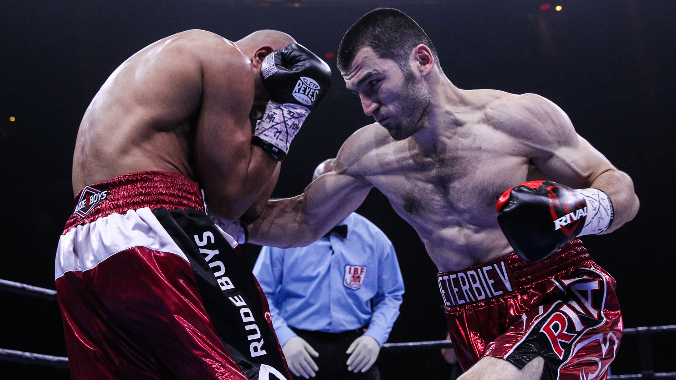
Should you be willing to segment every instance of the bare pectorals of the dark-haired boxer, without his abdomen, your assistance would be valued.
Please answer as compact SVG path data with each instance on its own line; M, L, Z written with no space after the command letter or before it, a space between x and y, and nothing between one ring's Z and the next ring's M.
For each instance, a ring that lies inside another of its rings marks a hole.
M375 179L377 187L414 218L446 211L472 219L487 208L494 214L500 194L527 174L527 159L504 139L489 126L468 124L441 137L436 151L425 151L413 139L400 141L383 170L390 175Z

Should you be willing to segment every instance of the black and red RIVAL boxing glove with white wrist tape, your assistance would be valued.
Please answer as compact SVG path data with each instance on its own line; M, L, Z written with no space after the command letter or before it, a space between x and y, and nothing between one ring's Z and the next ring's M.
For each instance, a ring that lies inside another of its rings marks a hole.
M612 224L612 202L599 189L571 189L552 181L531 181L498 199L498 224L514 252L533 262L575 237L604 233Z

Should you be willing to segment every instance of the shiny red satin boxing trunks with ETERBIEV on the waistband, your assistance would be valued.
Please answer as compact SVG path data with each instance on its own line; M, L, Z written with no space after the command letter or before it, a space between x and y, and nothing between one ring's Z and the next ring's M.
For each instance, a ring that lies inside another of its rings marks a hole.
M483 356L519 369L537 356L546 380L605 380L623 325L615 281L579 240L529 263L512 253L439 273L448 329L465 371Z

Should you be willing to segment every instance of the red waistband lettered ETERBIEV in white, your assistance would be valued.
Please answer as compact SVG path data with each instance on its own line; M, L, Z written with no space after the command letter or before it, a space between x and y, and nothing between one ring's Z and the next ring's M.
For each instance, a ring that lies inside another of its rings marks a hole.
M515 253L456 272L439 272L439 290L446 306L461 306L502 297L566 270L594 264L582 241L573 240L549 258L527 262Z

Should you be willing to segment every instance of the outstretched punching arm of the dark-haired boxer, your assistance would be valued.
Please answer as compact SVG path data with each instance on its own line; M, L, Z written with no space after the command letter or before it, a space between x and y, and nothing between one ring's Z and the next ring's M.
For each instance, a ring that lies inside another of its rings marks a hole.
M359 133L345 141L333 171L310 183L304 193L268 201L263 215L247 227L248 241L281 248L304 247L354 212L373 187L363 176L354 174L354 165L365 149Z

